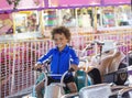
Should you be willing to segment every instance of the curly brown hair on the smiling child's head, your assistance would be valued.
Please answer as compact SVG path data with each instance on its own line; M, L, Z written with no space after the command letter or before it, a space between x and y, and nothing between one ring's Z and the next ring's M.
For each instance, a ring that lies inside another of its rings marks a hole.
M51 32L52 34L52 40L54 40L54 35L55 34L64 34L65 37L68 40L68 42L70 41L70 31L68 28L65 28L65 26L57 26L57 28L54 28Z

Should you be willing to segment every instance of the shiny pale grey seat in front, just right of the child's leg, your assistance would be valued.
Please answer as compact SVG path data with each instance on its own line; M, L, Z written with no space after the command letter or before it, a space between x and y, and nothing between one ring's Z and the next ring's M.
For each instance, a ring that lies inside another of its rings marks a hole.
M80 89L79 98L109 98L111 87L109 84L98 84Z

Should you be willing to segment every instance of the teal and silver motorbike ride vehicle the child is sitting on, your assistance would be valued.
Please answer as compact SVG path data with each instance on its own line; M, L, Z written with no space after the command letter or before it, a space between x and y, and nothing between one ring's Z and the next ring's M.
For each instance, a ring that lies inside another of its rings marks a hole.
M63 75L59 74L51 74L48 70L50 63L46 62L46 65L44 65L44 69L38 68L37 70L41 72L38 78L36 79L35 85L37 85L40 81L45 80L45 88L42 90L42 94L44 95L44 98L61 98L62 96L69 94L69 90L66 88L65 84L63 83L64 77L67 74L73 73L75 77L75 83L77 86L78 91L85 87L92 85L92 78L88 76L86 72L82 69L79 69L77 72L74 72L73 69L69 69L65 72ZM42 67L42 66L41 66ZM62 76L61 83L52 83L47 85L47 77L48 76ZM36 98L35 94L35 85L33 87L32 97Z

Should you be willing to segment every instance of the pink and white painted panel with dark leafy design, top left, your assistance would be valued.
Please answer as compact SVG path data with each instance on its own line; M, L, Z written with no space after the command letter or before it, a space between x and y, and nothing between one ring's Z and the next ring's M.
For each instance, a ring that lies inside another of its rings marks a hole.
M0 11L13 9L38 9L42 7L44 7L44 0L0 0Z

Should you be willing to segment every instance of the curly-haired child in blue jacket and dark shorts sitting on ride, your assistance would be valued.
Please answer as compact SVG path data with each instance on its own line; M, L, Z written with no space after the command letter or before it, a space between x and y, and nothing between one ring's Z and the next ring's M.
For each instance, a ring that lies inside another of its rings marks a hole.
M64 74L66 70L73 68L74 70L78 69L79 58L76 55L75 51L68 45L70 41L70 32L65 26L57 26L53 29L52 39L55 42L55 47L51 48L45 55L38 58L35 64L34 69L40 68L40 65L45 63L48 58L51 61L51 73L52 74ZM69 63L70 62L70 63ZM59 76L51 76L48 77L48 85L51 83L59 81ZM77 87L74 80L74 76L72 74L67 75L64 78L64 83L70 92L76 92ZM44 81L41 81L36 85L35 90L37 98L43 98L42 88L44 88Z

